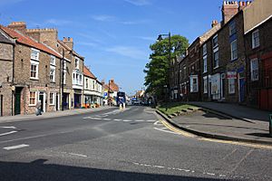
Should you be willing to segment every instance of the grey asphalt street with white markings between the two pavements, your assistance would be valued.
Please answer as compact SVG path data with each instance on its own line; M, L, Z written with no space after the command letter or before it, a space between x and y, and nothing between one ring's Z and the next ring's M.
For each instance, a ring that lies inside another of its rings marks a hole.
M131 106L0 124L0 180L272 180L272 149L180 135Z

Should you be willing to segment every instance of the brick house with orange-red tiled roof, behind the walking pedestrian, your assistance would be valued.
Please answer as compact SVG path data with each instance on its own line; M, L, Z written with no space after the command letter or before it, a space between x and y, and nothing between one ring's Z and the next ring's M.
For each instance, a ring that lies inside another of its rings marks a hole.
M61 54L26 35L24 23L1 26L15 40L15 114L32 114L38 101L42 110L59 110Z

